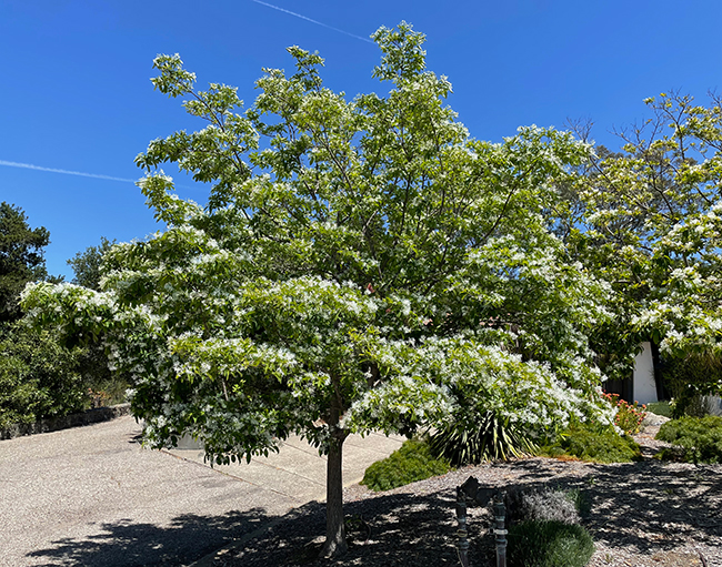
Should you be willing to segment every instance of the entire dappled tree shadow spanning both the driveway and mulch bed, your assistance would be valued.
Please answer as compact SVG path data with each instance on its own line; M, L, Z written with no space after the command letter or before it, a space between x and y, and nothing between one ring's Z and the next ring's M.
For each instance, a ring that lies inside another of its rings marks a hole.
M630 548L653 558L653 554L672 551L684 540L705 543L712 549L722 548L720 466L643 462L580 468L543 459L495 466L509 470L501 480L507 488L559 487L583 492L591 499L591 513L582 524L596 541L604 540L610 549ZM492 487L484 483L483 473L483 468L472 467L457 473L454 478L461 484L471 474L479 478L482 487ZM180 516L166 527L122 522L106 524L97 536L59 540L54 547L34 551L32 556L48 558L44 564L48 566L187 565L279 519L212 565L459 565L454 548L453 488L449 484L421 484L413 489L415 494L399 492L347 503L344 512L351 543L349 554L340 561L315 560L325 530L325 507L315 502L282 518L252 509L218 517ZM493 557L490 525L491 514L487 508L469 508L470 556L474 565L484 565Z

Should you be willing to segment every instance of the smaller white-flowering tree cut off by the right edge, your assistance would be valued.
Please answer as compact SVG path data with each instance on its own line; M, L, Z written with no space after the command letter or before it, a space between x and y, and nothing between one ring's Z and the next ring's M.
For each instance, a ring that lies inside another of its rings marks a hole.
M566 204L570 253L613 290L610 374L641 340L668 356L714 353L722 331L722 104L663 93L652 118L601 149ZM705 393L722 391L719 375Z

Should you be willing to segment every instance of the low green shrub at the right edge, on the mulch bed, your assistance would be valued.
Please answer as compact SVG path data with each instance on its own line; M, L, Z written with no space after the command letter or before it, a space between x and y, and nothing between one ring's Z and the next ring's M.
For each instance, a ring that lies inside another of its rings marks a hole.
M722 417L681 417L660 427L656 439L673 444L656 456L685 463L722 463Z

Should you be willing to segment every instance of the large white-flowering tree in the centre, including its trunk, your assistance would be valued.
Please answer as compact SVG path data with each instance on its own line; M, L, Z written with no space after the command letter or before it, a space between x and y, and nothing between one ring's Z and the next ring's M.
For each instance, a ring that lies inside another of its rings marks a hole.
M425 70L424 37L402 23L374 39L387 95L347 100L293 47L295 73L265 70L243 114L235 89L195 91L178 55L159 57L156 88L207 122L137 159L168 229L109 251L101 292L24 293L38 324L106 337L151 446L190 433L228 463L291 433L317 445L324 554L345 549L350 433L411 433L460 408L532 434L610 418L586 341L606 290L544 216L586 146L538 128L470 138L443 104L450 83ZM177 198L163 162L210 183L208 204Z

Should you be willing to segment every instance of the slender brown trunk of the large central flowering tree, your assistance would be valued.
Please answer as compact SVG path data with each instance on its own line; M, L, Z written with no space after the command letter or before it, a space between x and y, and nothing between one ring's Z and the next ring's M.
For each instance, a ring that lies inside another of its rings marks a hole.
M348 432L339 427L341 418L340 396L332 396L329 427L331 443L327 460L325 474L325 544L321 549L322 557L339 557L349 550L345 543L343 525L343 442Z

